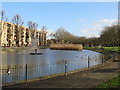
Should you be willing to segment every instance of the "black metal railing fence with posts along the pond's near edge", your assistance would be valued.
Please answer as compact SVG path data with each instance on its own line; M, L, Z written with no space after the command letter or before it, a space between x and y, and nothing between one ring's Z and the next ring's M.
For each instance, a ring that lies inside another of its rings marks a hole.
M104 58L87 57L86 60L61 60L56 64L44 65L4 65L0 67L1 71L1 85L8 86L12 84L26 83L30 80L40 79L54 74L64 74L82 68L89 68L90 66L103 64Z

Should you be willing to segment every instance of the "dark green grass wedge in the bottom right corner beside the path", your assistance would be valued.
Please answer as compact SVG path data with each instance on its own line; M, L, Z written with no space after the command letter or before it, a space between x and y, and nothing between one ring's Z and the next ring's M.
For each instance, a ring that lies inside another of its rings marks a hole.
M120 76L99 85L97 88L120 88Z

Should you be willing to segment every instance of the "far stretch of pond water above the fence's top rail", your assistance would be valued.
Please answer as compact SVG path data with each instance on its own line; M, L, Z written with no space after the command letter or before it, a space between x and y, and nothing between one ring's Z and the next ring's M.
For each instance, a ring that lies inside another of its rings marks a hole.
M2 65L42 65L42 64L56 64L62 60L67 62L81 60L86 63L88 56L91 58L91 62L96 60L96 64L101 63L101 53L83 50L83 51L66 51L66 50L50 50L39 49L38 52L42 52L42 55L30 55L33 50L23 50L18 52L2 51ZM94 62L92 62L94 63ZM81 63L82 64L82 63Z

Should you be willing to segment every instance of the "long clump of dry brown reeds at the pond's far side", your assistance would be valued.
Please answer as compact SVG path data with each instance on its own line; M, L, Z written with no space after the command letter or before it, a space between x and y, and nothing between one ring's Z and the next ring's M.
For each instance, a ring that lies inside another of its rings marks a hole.
M83 46L81 44L51 44L50 49L55 50L83 50Z

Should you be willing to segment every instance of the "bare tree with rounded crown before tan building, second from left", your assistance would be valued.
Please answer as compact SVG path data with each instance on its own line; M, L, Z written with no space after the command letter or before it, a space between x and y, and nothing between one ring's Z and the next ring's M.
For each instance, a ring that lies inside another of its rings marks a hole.
M21 19L21 16L19 14L16 14L14 16L14 18L12 19L13 24L15 25L15 41L16 41L16 45L19 47L19 43L20 43L20 36L21 36L21 28L20 26L22 26L24 24L23 20Z

